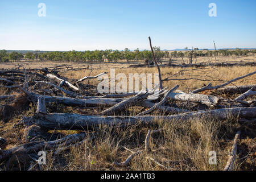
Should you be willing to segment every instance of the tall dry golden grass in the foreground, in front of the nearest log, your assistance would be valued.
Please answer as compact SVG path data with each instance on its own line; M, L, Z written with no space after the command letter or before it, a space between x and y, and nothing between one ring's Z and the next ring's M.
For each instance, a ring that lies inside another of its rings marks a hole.
M231 122L233 121L233 122ZM84 142L80 147L73 147L70 152L59 156L49 153L45 170L164 170L146 156L172 170L222 170L228 159L231 142L221 146L223 138L232 140L238 124L232 118L218 122L214 118L195 118L190 121L157 121L158 127L130 127L121 130L102 126L95 140ZM151 151L135 156L127 167L114 166L113 162L126 160L133 151L142 150L148 129L163 128L163 132L152 135ZM224 132L225 131L225 132ZM228 144L228 146L227 146ZM209 151L217 152L217 165L210 165ZM179 160L189 159L184 162ZM63 164L65 163L65 164ZM240 163L237 164L240 169Z

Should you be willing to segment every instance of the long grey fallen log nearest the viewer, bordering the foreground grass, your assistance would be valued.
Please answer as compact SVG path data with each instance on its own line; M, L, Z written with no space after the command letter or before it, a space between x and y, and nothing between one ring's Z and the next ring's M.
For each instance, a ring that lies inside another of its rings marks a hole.
M154 121L172 122L174 120L186 121L191 118L200 118L210 116L218 119L226 119L228 116L240 118L255 118L256 107L234 107L228 109L203 110L191 113L174 114L168 116L93 116L69 113L35 113L28 121L46 130L92 130L102 124L118 125L124 127L126 125L137 125L138 123L152 124Z

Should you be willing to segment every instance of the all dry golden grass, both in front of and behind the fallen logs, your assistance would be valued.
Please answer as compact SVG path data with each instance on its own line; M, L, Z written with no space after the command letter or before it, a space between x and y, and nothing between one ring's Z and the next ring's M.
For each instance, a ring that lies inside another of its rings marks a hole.
M41 64L41 63L40 63ZM42 63L44 64L44 63ZM76 64L75 64L76 65ZM120 67L122 65L123 68ZM47 65L46 65L47 66ZM52 65L51 65L52 66ZM127 68L126 64L112 64L115 67L115 74L137 72L157 73L156 68ZM92 65L93 71L89 69L81 71L64 71L60 75L77 80L86 75L94 76L102 72L110 72L110 64ZM209 80L218 81L165 81L163 86L172 88L176 84L180 85L180 90L186 91L196 89L203 84L212 82L213 85L221 84L223 81L232 80L235 77L246 75L255 71L255 67L231 67L231 68L205 68L195 70L186 68L187 71L181 72L172 78L208 78ZM162 77L170 77L181 71L181 68L161 68ZM110 73L108 73L110 76ZM222 81L221 81L222 80ZM97 86L97 79L90 80L90 85ZM243 78L233 82L234 85L255 84L256 76ZM85 81L85 84L87 81ZM10 94L7 89L0 88L1 95ZM226 96L223 96L226 97ZM4 104L1 102L0 104ZM0 121L0 137L8 140L7 148L11 148L19 143L14 133L22 138L24 127L16 126L22 115L32 115L36 109L35 104L31 104L29 109L15 111L13 118L4 123ZM79 108L66 107L62 105L48 105L49 112L67 112L83 113L86 111ZM130 114L138 113L141 108L132 108ZM129 166L117 167L113 162L122 162L131 153L123 147L132 151L139 151L144 148L144 139L148 129L164 130L150 138L151 151L143 152L135 156ZM255 169L255 125L245 126L237 122L236 118L229 117L226 121L220 122L216 118L193 118L187 122L184 121L155 121L154 126L132 126L127 129L119 127L101 126L100 130L95 129L97 138L88 140L78 147L72 147L70 151L65 151L60 155L54 155L53 152L47 153L47 164L42 166L44 170L163 170L146 156L154 158L164 166L173 170L222 170L228 159L228 151L232 146L232 140L238 128L242 129L242 140L238 146L237 170ZM75 131L50 131L51 139L58 138L62 135L73 134ZM55 134L53 136L53 134ZM217 152L217 165L210 165L209 151ZM175 162L177 160L190 159L187 162ZM1 164L0 164L1 166ZM5 167L1 167L5 168ZM19 169L19 168L18 168ZM22 168L23 169L23 168Z

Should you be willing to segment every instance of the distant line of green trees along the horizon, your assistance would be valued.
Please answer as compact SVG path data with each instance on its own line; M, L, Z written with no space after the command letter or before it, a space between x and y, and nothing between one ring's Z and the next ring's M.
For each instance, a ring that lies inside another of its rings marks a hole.
M180 57L185 64L184 58L188 58L188 63L192 64L192 62L197 60L197 57L213 57L215 56L242 56L256 53L256 50L242 50L242 49L234 49L234 50L225 50L219 49L217 51L200 51L198 48L188 49L185 48L185 51L160 51L160 47L154 47L155 58L157 61L162 63L161 60L168 59L171 63L172 59ZM60 52L60 51L51 51L51 52L7 52L6 50L0 51L0 62L4 63L7 61L19 61L26 59L28 61L36 60L36 61L75 61L75 62L92 62L92 61L122 61L126 60L130 61L148 61L148 63L152 62L152 52L148 50L139 51L139 49L135 49L134 51L130 51L129 49L125 49L123 51L107 49L105 51L68 51L68 52Z

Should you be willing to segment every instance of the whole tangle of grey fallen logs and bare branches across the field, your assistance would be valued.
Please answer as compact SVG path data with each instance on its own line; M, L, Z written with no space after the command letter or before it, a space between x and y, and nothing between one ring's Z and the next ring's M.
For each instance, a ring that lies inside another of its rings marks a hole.
M159 90L142 90L139 93L124 94L98 94L96 88L88 84L82 84L84 80L94 79L104 75L85 76L79 80L71 80L61 77L59 69L67 67L52 67L44 69L12 69L0 71L0 87L7 88L8 93L15 94L0 96L0 101L5 101L1 105L1 117L8 122L14 110L21 108L27 102L37 105L36 112L30 117L23 117L20 123L26 126L23 144L5 150L6 139L0 138L0 163L6 162L9 166L13 157L37 154L40 150L53 150L55 154L68 150L71 146L76 146L85 139L93 139L97 135L88 131L97 130L102 124L117 125L127 127L131 125L151 125L155 121L163 122L184 122L191 118L214 117L220 121L232 115L240 121L255 121L256 101L248 98L255 98L256 85L227 86L233 81L254 75L256 72L242 77L234 78L222 85L212 86L208 84L203 88L191 90L189 93L174 88ZM69 69L72 69L69 67ZM46 88L46 85L48 88ZM94 92L88 89L94 89ZM233 100L200 94L205 90L214 90L214 93L240 94ZM94 93L94 94L92 94ZM81 109L100 108L94 114L85 115L77 113L48 113L47 105L50 103L61 104ZM142 107L140 113L136 115L124 115L129 107ZM154 114L159 112L161 114ZM79 134L68 135L64 138L45 141L34 140L33 132L36 135L46 133L49 130L77 130ZM160 130L159 130L160 131ZM152 131L154 133L155 131ZM146 141L148 140L148 134ZM145 150L147 150L147 142ZM133 152L126 162L114 163L117 166L126 166L130 159L142 151ZM236 153L234 151L234 153ZM229 167L233 165L233 158L230 157ZM231 159L232 158L232 159ZM153 162L158 163L154 161ZM8 166L7 165L7 166ZM160 164L158 164L160 165Z

